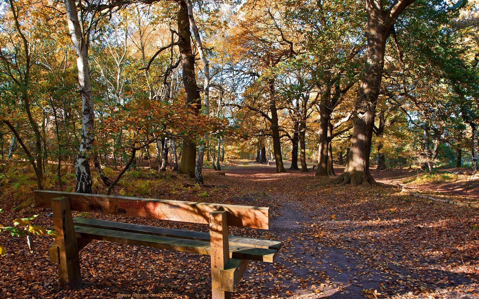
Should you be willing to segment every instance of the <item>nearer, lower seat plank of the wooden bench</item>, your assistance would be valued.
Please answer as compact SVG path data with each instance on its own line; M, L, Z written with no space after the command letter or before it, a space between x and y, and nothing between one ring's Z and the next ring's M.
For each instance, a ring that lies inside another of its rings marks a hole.
M130 233L86 226L75 226L77 238L117 242L123 244L171 249L202 255L210 255L210 242L156 236L144 233ZM277 251L266 248L236 246L229 244L229 255L232 258L248 259L273 263Z

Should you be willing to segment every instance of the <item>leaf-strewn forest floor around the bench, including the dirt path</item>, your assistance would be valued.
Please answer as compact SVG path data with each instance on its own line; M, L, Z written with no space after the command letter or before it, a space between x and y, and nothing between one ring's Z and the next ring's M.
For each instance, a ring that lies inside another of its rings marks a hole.
M325 185L328 180L313 172L275 174L273 165L248 161L233 161L226 169L225 176L205 170L212 188L180 188L187 179L167 175L141 195L271 208L269 231L230 231L283 242L274 264L250 262L233 298L479 298L478 209L415 198L396 185L439 196L435 188L451 183L447 176L434 183L435 177L414 178L415 171L373 171L384 186L365 188ZM339 174L342 169L336 170ZM479 179L466 183L464 198L477 200ZM124 185L122 190L129 192ZM445 191L461 198L465 187ZM34 224L52 224L45 216L49 210L11 210L16 204L0 203L0 223L35 213L40 216ZM204 225L171 221L82 216L207 231ZM48 260L50 242L35 238L35 252L30 253L24 239L0 234L0 244L9 252L0 257L0 298L210 298L207 256L100 241L80 253L83 288L62 290L57 267Z

